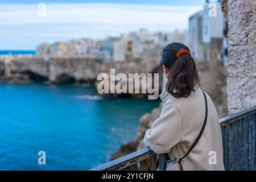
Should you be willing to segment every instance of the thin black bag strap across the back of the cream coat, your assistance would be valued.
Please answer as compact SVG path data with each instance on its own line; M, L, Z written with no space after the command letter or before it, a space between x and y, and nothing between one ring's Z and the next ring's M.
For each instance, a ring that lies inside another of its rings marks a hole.
M178 160L178 163L180 164L180 171L183 171L183 166L181 164L181 160L184 159L192 150L193 148L196 146L197 142L199 142L201 136L203 135L204 133L204 129L205 129L205 125L207 123L207 118L208 118L208 104L207 104L207 97L205 96L205 93L204 91L202 90L203 94L204 94L204 100L205 100L205 117L204 117L204 124L201 128L201 131L199 133L199 135L197 136L195 142L192 144L192 146L189 148L189 150L187 151L187 153Z

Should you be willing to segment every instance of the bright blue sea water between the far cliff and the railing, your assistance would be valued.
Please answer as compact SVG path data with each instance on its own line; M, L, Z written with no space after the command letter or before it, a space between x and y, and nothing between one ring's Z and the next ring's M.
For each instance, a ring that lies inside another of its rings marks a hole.
M134 139L159 101L90 97L91 86L0 84L0 170L86 170ZM46 152L46 165L38 164Z

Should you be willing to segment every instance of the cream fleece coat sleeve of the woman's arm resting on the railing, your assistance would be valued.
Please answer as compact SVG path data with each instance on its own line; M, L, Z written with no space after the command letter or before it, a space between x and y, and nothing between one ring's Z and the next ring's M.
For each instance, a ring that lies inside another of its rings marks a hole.
M168 104L163 107L160 117L154 121L151 129L146 131L144 144L156 154L171 151L181 141L181 115L176 106Z

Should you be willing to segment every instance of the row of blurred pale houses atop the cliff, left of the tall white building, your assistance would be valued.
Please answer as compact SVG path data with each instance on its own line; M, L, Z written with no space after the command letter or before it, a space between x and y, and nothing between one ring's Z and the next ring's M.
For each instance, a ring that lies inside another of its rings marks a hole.
M152 55L170 42L185 43L186 31L156 32L147 29L129 32L104 40L79 39L69 42L43 43L36 48L39 56L85 56L95 57L106 63L125 60L139 60ZM151 52L150 52L151 51ZM146 54L146 55L145 55Z

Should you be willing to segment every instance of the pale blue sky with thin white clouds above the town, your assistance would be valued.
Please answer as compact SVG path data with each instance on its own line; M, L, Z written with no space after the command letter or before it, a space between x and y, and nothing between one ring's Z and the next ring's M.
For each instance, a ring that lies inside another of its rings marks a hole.
M46 5L45 11L38 7L40 2ZM203 9L204 2L0 0L0 49L33 50L44 42L104 39L141 28L152 32L184 30L188 17Z

